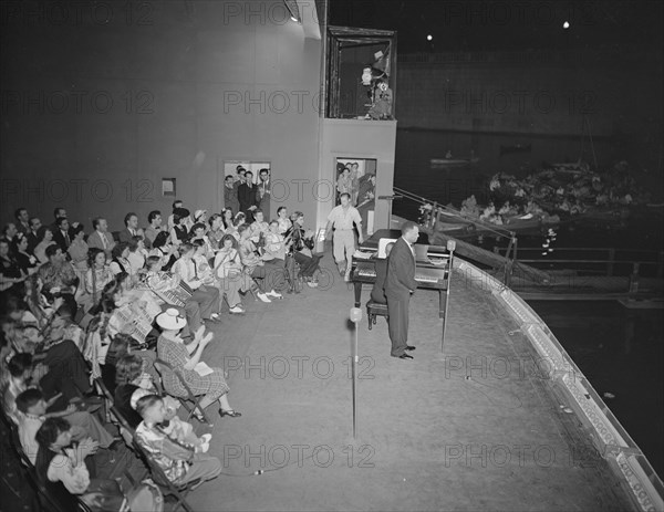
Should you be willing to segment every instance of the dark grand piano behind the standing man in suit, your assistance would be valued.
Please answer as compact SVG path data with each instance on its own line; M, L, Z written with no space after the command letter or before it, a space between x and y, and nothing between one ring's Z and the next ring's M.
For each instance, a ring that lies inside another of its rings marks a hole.
M353 258L351 268L351 282L355 289L355 307L362 303L362 285L374 284L376 281L375 262L377 260L378 243L381 239L397 239L401 231L382 229L376 231L369 240L359 248L362 253L373 254L369 259ZM449 282L450 253L445 247L428 245L421 243L426 239L417 240L415 243L415 280L417 289L437 290L439 296L438 316L445 317L445 302L447 300L447 284Z

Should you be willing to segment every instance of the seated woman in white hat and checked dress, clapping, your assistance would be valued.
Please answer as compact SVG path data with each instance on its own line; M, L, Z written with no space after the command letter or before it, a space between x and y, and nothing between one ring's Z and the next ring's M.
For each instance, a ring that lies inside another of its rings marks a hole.
M194 336L194 342L185 345L179 336L180 330L187 325L184 315L175 309L168 309L157 315L157 325L162 327L163 333L157 341L157 354L160 359L170 364L176 370L179 370L185 382L191 388L194 395L205 395L200 400L200 407L205 409L215 401L219 401L219 415L237 418L242 416L235 411L228 403L229 387L224 378L224 370L220 368L209 368L207 365L200 365L200 356L204 348L212 341L212 333L205 333L205 326L201 326ZM211 369L211 372L210 372ZM186 389L183 388L175 375L163 376L164 388L176 396L185 396ZM200 419L199 417L197 417Z

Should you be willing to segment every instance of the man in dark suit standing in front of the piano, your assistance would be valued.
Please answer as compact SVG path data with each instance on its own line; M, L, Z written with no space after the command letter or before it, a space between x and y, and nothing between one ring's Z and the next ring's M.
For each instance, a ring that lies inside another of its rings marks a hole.
M415 222L406 221L402 226L402 237L394 243L387 259L387 276L385 279L385 296L387 297L387 313L390 339L392 341L392 356L400 359L412 359L406 351L415 347L408 341L408 307L411 295L417 289L415 281L415 253L413 243L419 237L419 228Z

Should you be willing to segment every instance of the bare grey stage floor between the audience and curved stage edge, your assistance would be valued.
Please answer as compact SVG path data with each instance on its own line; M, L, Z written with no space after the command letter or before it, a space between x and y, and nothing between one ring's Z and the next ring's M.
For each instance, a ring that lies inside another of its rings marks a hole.
M196 511L631 508L517 323L456 274L443 353L437 293L411 302L414 361L391 357L385 320L369 331L363 310L353 439L353 291L330 251L322 267L332 282L247 297L214 327L205 361L228 369L242 417L208 409L226 474L189 495Z

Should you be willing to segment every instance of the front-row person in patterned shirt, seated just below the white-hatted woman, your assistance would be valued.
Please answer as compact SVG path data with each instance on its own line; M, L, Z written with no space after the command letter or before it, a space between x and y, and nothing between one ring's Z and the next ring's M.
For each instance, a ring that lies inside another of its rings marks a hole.
M219 459L205 454L210 435L198 439L197 445L188 442L195 436L191 432L185 435L181 425L166 421L164 400L157 395L139 398L136 411L143 418L136 428L136 439L172 483L179 487L197 479L212 480L219 476Z

